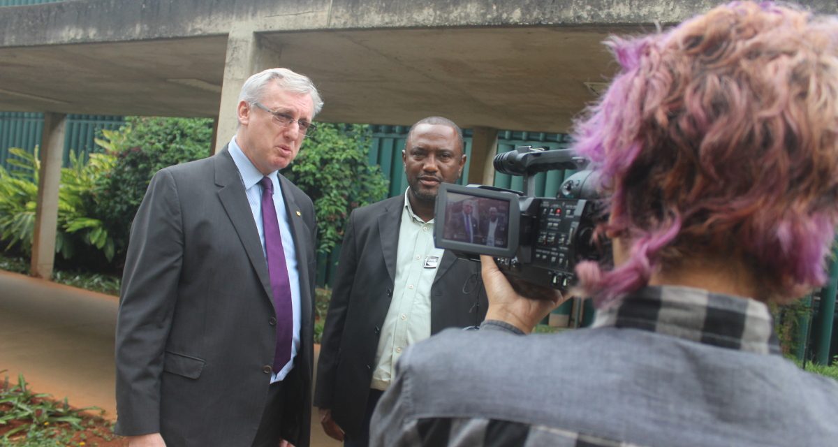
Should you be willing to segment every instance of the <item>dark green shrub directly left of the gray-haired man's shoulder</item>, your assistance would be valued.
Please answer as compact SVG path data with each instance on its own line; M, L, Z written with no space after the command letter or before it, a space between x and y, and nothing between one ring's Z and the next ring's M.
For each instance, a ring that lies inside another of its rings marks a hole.
M125 262L131 223L158 170L209 156L209 118L127 117L118 131L103 130L96 143L116 164L96 182L96 214L114 238L117 265Z

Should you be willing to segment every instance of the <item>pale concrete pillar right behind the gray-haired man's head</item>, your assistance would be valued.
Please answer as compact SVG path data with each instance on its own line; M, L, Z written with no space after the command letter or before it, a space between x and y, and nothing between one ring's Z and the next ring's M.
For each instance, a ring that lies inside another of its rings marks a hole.
M215 148L224 148L235 135L238 125L236 107L241 86L251 75L268 68L278 67L282 49L275 47L260 35L253 33L248 23L241 23L227 36L227 59L224 66L224 83L221 85L221 103L218 114ZM215 153L215 150L213 151Z

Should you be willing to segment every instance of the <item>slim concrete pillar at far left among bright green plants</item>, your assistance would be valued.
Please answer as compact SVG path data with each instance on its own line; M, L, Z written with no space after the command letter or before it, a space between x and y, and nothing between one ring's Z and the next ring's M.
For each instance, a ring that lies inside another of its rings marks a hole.
M63 113L44 113L38 174L38 203L35 207L35 231L32 240L32 276L52 278L55 262L55 233L58 227L58 189L61 183L61 159L64 153L65 124Z

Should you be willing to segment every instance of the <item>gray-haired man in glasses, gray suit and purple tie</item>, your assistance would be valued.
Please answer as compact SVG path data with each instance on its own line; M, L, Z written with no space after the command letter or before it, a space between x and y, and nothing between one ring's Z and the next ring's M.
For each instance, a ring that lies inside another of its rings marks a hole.
M132 446L308 445L316 226L279 169L323 101L251 76L215 156L154 175L132 225L116 327L116 433Z

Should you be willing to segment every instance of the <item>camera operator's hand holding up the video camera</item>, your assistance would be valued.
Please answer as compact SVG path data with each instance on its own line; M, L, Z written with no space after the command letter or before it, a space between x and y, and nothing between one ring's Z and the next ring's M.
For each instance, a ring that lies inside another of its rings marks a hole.
M566 300L553 288L515 279L513 285L490 256L480 256L480 264L486 294L489 295L486 320L504 321L529 334L552 309Z

